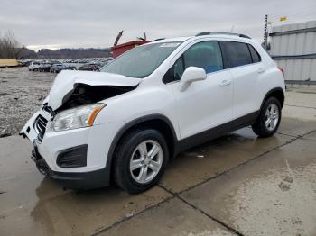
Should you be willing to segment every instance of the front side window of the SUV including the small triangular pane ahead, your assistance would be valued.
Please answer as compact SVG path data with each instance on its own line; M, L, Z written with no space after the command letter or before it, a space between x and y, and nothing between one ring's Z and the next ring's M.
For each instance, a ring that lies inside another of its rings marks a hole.
M186 50L163 77L164 83L179 81L186 68L204 68L206 73L223 69L218 41L202 41Z

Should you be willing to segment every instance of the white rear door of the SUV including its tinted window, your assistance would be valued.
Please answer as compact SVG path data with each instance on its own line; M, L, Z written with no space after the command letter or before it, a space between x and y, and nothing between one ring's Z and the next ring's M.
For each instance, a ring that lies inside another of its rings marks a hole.
M234 80L233 119L258 111L258 79L265 71L259 54L247 43L225 42L229 71Z

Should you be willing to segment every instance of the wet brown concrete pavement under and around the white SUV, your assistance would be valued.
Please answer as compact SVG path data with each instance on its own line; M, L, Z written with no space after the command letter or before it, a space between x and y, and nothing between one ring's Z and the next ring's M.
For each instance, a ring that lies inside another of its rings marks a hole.
M1 138L0 235L316 235L313 91L288 92L273 137L244 128L185 151L140 195L63 190L29 141Z

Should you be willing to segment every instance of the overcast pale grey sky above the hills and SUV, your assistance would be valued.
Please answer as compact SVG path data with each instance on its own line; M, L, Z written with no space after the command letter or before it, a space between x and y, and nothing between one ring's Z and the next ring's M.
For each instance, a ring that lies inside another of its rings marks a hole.
M204 31L262 41L265 14L272 25L316 20L316 0L0 0L0 33L14 32L32 50L111 47L121 30L120 42Z

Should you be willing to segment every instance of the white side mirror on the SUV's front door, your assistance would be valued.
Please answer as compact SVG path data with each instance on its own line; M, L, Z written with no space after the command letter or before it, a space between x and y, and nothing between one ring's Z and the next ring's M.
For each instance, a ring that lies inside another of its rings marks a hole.
M189 67L183 72L180 80L179 90L183 92L191 83L206 79L206 72L203 68Z

